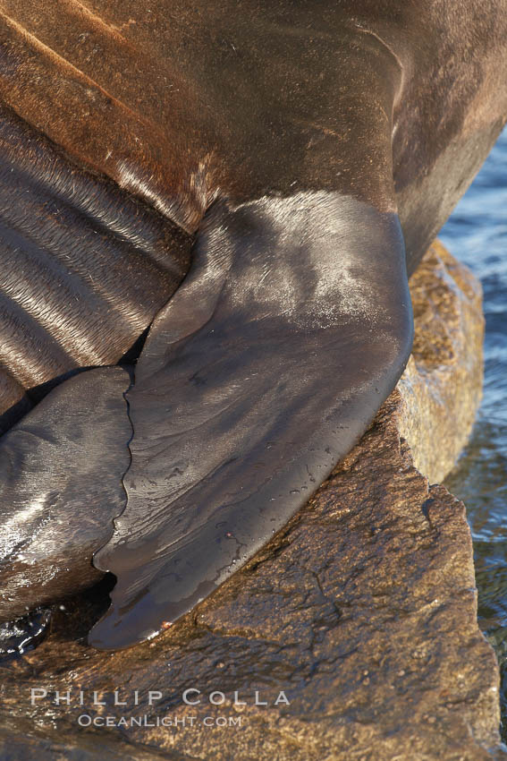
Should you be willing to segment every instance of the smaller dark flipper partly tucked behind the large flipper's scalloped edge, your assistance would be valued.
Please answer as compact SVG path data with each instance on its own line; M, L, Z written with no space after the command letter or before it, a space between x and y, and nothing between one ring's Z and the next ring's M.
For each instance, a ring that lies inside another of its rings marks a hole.
M121 367L80 372L0 439L0 621L89 586L125 504L131 423Z

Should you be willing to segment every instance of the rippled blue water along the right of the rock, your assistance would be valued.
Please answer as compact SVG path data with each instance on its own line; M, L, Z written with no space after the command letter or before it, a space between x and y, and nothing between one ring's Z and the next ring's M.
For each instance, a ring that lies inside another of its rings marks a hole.
M484 398L469 446L445 485L467 506L479 626L500 663L507 740L507 128L439 237L484 289Z

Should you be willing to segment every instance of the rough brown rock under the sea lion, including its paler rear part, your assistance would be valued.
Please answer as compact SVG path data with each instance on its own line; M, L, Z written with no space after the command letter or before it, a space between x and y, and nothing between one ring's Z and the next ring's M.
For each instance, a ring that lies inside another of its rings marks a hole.
M406 376L246 568L151 643L91 650L84 636L98 603L81 596L57 612L37 650L1 664L2 759L507 758L465 511L428 486L410 454L433 481L468 435L480 393L480 295L438 246L412 293L417 341ZM30 705L30 688L48 696ZM188 688L201 690L189 695L199 705L183 703ZM115 689L128 705L114 705ZM162 693L152 706L150 689ZM71 705L56 705L55 690L71 690ZM93 690L105 705L92 705ZM223 705L210 705L214 690ZM233 705L235 690L247 705ZM268 705L254 705L256 690ZM289 703L273 705L281 690ZM83 729L83 714L180 724ZM206 717L234 724L206 726Z

